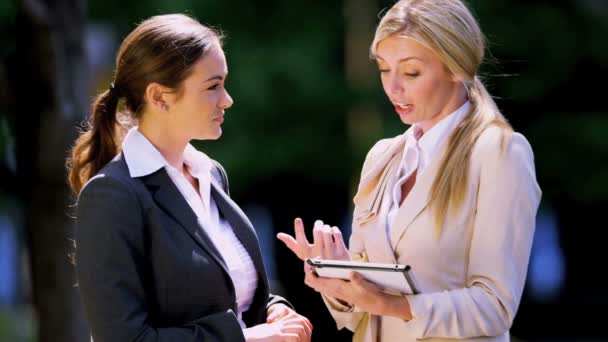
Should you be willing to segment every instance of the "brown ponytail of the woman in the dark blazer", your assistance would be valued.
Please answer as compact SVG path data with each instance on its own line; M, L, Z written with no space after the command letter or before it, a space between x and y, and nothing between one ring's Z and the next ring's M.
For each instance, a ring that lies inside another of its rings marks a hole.
M93 102L91 118L76 140L67 162L68 180L75 194L118 153L116 111L119 99L118 89L112 84Z

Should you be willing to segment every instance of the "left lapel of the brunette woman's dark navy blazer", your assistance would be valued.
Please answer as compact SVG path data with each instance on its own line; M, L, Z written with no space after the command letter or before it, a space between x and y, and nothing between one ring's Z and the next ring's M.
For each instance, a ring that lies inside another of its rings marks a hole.
M169 178L167 171L162 168L149 176L141 177L141 179L153 194L156 204L177 221L203 249L209 251L209 254L226 274L229 274L228 267L221 254L205 233L205 230L201 229L196 214Z

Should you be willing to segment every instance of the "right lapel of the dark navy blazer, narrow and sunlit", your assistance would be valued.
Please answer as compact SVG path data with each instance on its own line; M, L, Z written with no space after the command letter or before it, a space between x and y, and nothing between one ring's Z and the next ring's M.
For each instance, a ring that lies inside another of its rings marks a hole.
M230 224L236 237L241 241L247 253L251 256L253 264L259 274L259 280L268 286L264 261L260 252L257 235L245 213L221 190L215 182L211 182L211 196L215 200L218 210Z

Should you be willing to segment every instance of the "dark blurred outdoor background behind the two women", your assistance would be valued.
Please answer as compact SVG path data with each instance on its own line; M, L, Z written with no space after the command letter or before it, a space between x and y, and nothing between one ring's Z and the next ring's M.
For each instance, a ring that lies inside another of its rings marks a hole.
M348 235L366 152L405 130L368 53L392 3L1 1L0 341L88 341L70 264L65 158L92 96L112 80L122 38L171 12L227 35L235 104L222 138L196 146L227 169L274 292L311 319L314 341L350 341L274 235L292 232L297 216ZM482 75L530 141L543 190L513 340L606 340L608 1L468 3L489 40Z

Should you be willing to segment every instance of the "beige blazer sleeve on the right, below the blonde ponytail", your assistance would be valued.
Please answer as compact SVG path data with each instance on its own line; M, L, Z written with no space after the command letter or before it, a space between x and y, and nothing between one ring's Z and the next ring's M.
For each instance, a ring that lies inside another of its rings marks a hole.
M414 318L403 324L416 338L502 335L517 312L541 191L527 140L514 133L501 153L496 135L489 136L480 137L481 169L466 287L407 296Z

